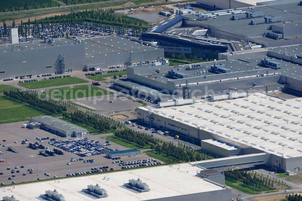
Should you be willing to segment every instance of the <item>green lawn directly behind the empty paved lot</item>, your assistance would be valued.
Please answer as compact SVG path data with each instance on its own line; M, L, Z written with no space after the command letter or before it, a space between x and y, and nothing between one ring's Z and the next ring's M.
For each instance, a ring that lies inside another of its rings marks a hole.
M108 94L113 94L113 92L109 92L102 88L92 85L80 85L80 86L63 87L63 88L56 88L56 89L46 89L43 90L43 94L47 94L49 96L61 100L68 100L73 98L108 95Z

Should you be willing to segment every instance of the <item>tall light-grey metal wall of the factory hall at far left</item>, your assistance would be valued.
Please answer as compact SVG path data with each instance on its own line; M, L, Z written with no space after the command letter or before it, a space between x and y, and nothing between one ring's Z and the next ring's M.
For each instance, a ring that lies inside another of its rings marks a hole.
M81 71L85 66L84 43L0 53L0 78L39 75L59 71L59 54L65 57L65 69ZM52 66L46 68L46 66Z

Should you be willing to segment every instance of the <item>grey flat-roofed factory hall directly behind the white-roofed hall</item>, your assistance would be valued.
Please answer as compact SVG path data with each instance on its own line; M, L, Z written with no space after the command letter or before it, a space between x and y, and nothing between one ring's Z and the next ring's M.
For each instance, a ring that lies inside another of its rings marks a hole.
M255 92L302 92L302 46L220 53L213 62L168 67L164 59L127 67L127 79L113 80L117 90L156 101L244 97Z

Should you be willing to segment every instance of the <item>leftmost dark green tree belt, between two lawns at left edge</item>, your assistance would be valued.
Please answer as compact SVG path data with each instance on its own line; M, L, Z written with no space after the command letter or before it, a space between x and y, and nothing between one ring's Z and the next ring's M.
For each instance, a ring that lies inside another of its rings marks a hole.
M45 94L36 91L4 91L3 94L51 113L62 113L68 107L65 102L48 99Z

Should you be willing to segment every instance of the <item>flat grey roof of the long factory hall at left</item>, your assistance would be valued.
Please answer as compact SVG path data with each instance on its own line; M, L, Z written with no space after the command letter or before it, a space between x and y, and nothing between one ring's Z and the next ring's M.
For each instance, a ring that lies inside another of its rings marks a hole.
M15 51L22 49L35 49L35 48L45 48L53 46L63 46L63 45L76 45L76 40L72 38L57 38L53 40L53 45L50 43L44 43L44 40L37 39L34 42L23 42L18 44L5 43L0 45L0 52L11 51L11 46L15 46ZM101 56L109 54L121 54L129 52L140 52L149 49L155 49L158 47L146 46L137 41L132 41L126 37L120 36L103 36L94 38L79 38L81 43L85 44L85 56Z

